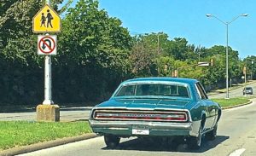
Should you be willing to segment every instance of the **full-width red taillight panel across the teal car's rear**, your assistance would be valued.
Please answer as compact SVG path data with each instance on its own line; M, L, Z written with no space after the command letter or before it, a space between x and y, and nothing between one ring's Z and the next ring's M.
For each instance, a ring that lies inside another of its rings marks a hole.
M108 112L96 111L95 119L106 120L150 120L186 122L188 115L185 112Z

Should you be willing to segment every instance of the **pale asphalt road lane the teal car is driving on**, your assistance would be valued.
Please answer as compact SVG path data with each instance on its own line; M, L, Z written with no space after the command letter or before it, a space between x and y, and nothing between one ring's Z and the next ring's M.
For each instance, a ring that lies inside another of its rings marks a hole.
M212 142L203 141L200 150L190 150L185 142L176 149L165 146L161 142L143 142L137 138L122 139L119 147L114 150L107 149L103 138L82 142L69 143L59 147L51 147L33 153L21 154L20 156L82 156L82 155L219 155L238 156L256 155L256 99L253 103L244 107L236 107L224 110L223 116L218 123L218 136Z

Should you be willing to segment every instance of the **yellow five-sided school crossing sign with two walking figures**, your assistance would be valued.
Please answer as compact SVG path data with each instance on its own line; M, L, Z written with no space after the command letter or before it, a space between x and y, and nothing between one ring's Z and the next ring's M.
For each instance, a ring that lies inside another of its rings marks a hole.
M61 17L48 4L33 17L33 32L61 32Z

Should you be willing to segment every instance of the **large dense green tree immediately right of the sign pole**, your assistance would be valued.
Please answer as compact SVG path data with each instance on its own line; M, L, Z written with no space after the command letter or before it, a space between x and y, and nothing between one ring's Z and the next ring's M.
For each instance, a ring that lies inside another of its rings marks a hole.
M54 83L61 101L106 99L125 78L131 36L117 18L93 0L80 0L67 10L59 35ZM78 87L79 85L79 87ZM69 96L67 96L69 95Z

